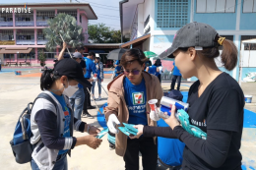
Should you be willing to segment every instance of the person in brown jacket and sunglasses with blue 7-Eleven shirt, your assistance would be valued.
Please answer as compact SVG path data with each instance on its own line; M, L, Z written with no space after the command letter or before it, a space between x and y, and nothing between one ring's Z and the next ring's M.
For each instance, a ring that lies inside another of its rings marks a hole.
M147 58L140 49L130 49L121 58L124 74L119 75L107 85L109 90L105 119L107 127L115 134L116 154L123 156L126 170L139 170L139 152L142 153L143 167L156 170L158 161L158 146L156 138L131 140L122 133L118 133L116 124L143 124L156 126L151 120L147 101L153 98L160 100L162 90L156 76L144 72Z

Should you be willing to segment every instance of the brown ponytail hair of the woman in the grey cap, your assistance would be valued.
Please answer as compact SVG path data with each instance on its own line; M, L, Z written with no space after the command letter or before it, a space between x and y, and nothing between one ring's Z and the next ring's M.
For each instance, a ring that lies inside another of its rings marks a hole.
M215 38L216 46L204 48L202 51L197 51L200 56L206 58L216 58L220 56L219 46L223 46L223 53L221 55L224 68L227 71L234 69L237 63L237 48L234 43L219 34Z

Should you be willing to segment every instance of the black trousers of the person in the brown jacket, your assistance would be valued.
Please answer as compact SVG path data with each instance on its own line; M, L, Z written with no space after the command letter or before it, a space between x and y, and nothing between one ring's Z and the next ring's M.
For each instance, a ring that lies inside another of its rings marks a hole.
M139 170L139 151L142 153L144 170L156 170L158 164L158 145L153 138L141 137L140 139L127 140L124 154L125 170Z

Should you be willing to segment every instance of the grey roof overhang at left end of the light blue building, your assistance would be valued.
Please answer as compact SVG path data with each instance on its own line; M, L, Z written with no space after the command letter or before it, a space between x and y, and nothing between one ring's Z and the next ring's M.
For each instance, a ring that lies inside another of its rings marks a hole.
M121 34L130 34L138 5L145 0L123 0L119 2Z

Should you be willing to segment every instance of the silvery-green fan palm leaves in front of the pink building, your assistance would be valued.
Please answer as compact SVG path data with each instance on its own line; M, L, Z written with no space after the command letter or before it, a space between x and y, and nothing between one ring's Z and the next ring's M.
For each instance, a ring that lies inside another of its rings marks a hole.
M72 48L83 46L85 35L83 28L77 25L77 21L74 17L60 13L55 18L48 21L49 28L44 28L48 42L46 43L46 50L53 51L57 45L62 46L62 39L59 34L62 35L64 41Z

